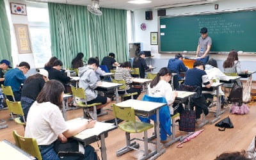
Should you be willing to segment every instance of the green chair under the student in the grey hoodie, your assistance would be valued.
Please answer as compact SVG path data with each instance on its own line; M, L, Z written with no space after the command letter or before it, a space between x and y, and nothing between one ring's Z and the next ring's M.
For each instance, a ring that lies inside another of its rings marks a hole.
M71 90L72 90L74 100L76 100L76 98L86 99L86 95L84 93L83 88L76 88L74 86L71 86ZM99 115L97 115L97 106L101 105L102 103L87 104L86 102L81 102L81 100L76 100L76 104L77 104L77 106L83 108L84 117L86 117L89 113L90 116L92 116L94 120L97 120L97 116L108 114L108 112L105 112L105 113L100 113ZM90 111L90 108L92 108L92 107L93 107L93 112Z

